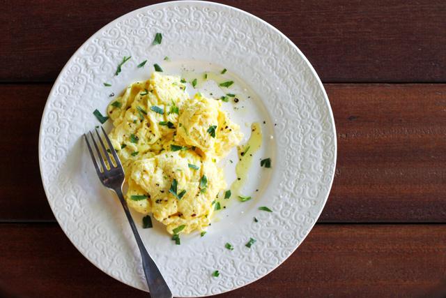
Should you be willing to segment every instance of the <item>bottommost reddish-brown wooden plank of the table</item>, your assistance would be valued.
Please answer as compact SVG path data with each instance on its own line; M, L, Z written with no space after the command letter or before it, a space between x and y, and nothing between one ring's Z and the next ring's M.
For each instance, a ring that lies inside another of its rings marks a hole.
M0 239L10 295L147 297L91 265L56 224L1 224ZM316 225L271 274L217 297L420 297L442 283L445 255L445 225Z

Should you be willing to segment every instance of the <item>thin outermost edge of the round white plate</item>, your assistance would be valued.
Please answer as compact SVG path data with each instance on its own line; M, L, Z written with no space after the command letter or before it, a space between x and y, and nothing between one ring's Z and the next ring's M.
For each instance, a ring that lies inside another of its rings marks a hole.
M59 223L59 219L57 218L56 214L54 214L54 209L51 207L51 204L49 203L49 199L48 199L48 190L47 190L47 186L45 186L45 183L43 181L43 161L42 161L42 157L41 157L41 153L40 153L40 148L43 142L43 119L45 116L45 113L47 112L48 108L49 108L49 97L51 96L51 94L53 93L56 85L59 83L59 81L61 80L61 75L64 72L64 70L66 70L66 68L69 66L69 64L71 63L71 61L73 59L75 59L76 54L82 49L82 47L84 47L84 45L86 45L87 43L89 43L90 40L93 40L93 38L96 36L97 33L99 33L100 31L102 31L102 29L105 29L105 27L108 27L110 24L114 24L116 22L119 22L120 20L124 19L125 17L127 17L130 14L136 13L139 10L144 10L145 8L156 8L157 6L164 6L164 5L175 5L181 3L181 5L193 5L193 4L210 4L215 5L215 6L222 6L224 8L229 8L229 9L233 9L233 10L238 10L238 12L243 13L245 15L248 15L249 17L254 17L255 20L261 22L262 24L266 25L267 27L269 27L270 29L272 29L273 31L279 33L279 36L281 36L282 38L284 38L289 45L291 45L291 47L293 48L293 50L297 50L298 54L300 55L300 57L302 58L303 61L305 61L305 64L309 67L309 70L311 71L312 75L314 75L314 78L316 79L316 82L320 88L320 90L322 91L323 94L323 98L325 100L325 104L326 107L328 109L328 118L330 120L330 123L332 124L332 134L333 134L333 158L332 158L332 162L333 162L333 170L332 170L332 174L330 177L330 182L327 184L328 186L328 191L326 193L326 195L324 195L324 200L323 203L321 204L321 209L318 211L317 216L315 217L314 223L312 223L311 228L308 230L308 232L305 234L305 236L302 237L302 241L300 241L300 243L298 243L297 246L295 246L295 248L293 249L293 251L291 251L291 253L289 253L289 255L284 258L283 260L281 260L275 267L272 267L272 269L270 269L270 271L267 271L265 274L259 276L258 278L254 278L252 279L252 281L249 281L247 283L245 283L244 285L235 285L233 288L228 289L228 290L224 290L222 292L219 293L211 293L210 295L199 295L199 296L194 296L194 297L211 297L211 296L215 296L215 295L220 295L226 292L231 292L233 290L237 290L239 288L243 288L251 283L254 283L255 281L259 281L262 278L264 278L265 276L267 276L268 274L271 274L272 271L275 271L275 269L277 269L277 267L279 267L280 265L282 265L286 260L288 260L288 258L291 257L291 255L293 255L293 253L295 253L295 251L298 249L298 247L303 243L303 241L305 241L305 239L307 238L307 236L309 235L310 232L312 232L314 225L316 225L316 222L318 221L318 218L321 216L323 209L325 208L325 204L328 201L328 197L330 195L331 189L332 189L332 184L334 181L334 174L335 174L335 170L336 170L336 166L337 166L337 130L336 130L336 124L334 121L334 115L332 112L332 107L330 105L330 100L328 99L328 94L325 91L325 88L323 87L323 83L321 82L321 78L318 76L318 74L316 73L316 70L314 70L314 67L312 66L312 64L310 63L310 61L307 59L307 57L305 56L305 54L302 53L302 51L299 49L299 47L297 45L295 45L295 43L293 43L293 41L288 38L288 36L286 36L284 33L282 33L282 31L280 31L279 29L277 29L276 27L272 26L272 24L266 22L265 20L261 19L260 17L257 17L256 15L253 15L252 13L249 13L245 10L242 10L240 8L236 8L234 6L230 6L230 5L226 5L223 3L217 3L217 2L213 2L213 1L202 1L202 0L174 0L174 1L162 1L160 3L155 3L155 4L151 4L148 6L142 6L139 8L136 8L134 10L129 11L128 13L125 13L119 17L116 17L116 19L108 22L107 24L105 24L104 26L100 27L100 29L96 30L89 38L87 38L84 43L82 43L82 45L79 45L79 47L77 47L77 50L75 50L75 52L72 53L70 59L68 59L68 61L66 62L66 64L63 66L63 68L61 68L59 75L57 75L56 80L54 80L54 84L52 86L52 88L49 91L49 94L47 96L47 100L45 101L45 107L43 109L42 112L42 116L40 119L40 126L39 126L39 134L38 134L38 159L39 159L39 172L40 172L40 179L42 180L42 185L43 185L43 189L45 191L45 196L47 198L47 202L49 204L49 207L52 211L52 214L54 215L54 218L56 219L56 223L58 223L59 228L61 228L61 230L63 231L63 234L65 234L66 238L68 238L68 240L70 241L70 243L77 249L77 251L79 253L81 253L81 255L88 260L94 267L100 269L100 271L102 271L103 273L107 274L107 276L112 277L115 281L119 281L120 283L123 283L125 285L130 286L131 288L135 288L137 290L142 290L139 289L137 287L134 287L133 285L130 285L128 283L125 283L125 281L121 281L118 278L115 278L114 276L112 276L111 274L109 274L107 271L105 271L104 269L102 269L101 267L98 267L98 265L96 265L93 260L90 260L90 258L84 254L77 246L77 244L75 244L72 239L70 239L70 237L68 237L68 234L66 233L65 230L63 230L61 223ZM145 290L142 290L144 292L148 292ZM178 297L182 297L182 296L178 296Z

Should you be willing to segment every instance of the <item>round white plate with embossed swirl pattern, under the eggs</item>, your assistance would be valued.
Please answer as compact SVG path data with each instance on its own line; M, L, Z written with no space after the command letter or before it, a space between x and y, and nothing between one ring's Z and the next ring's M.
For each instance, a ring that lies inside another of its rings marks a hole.
M153 46L156 32L162 44ZM123 56L132 58L114 76ZM137 68L145 59L146 66ZM109 94L148 78L155 63L178 74L182 67L227 68L235 88L247 89L252 98L237 104L244 109L234 110L234 103L225 109L247 136L245 123L261 121L264 140L244 189L253 200L234 200L204 237L183 236L180 246L154 221L153 229L140 230L144 244L174 296L215 295L252 283L284 262L316 223L332 184L336 134L327 95L304 55L277 29L242 10L201 1L147 6L107 24L77 50L49 94L40 127L40 172L54 216L96 267L147 290L128 221L98 181L82 134L98 125L92 112L105 111ZM271 169L259 166L266 157L272 158ZM222 165L230 184L233 168L227 159ZM256 239L251 248L245 247L249 237ZM226 242L235 249L224 248ZM211 276L214 270L218 278Z

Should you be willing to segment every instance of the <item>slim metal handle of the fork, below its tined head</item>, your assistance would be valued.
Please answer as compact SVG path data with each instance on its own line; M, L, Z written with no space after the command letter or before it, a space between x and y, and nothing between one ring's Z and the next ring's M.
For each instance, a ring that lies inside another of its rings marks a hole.
M160 273L160 269L156 266L155 262L144 247L142 243L141 237L139 237L139 233L137 227L134 225L133 218L130 214L130 211L127 206L127 202L125 202L123 192L121 188L114 190L118 195L121 204L123 205L123 209L125 211L125 215L127 216L128 222L130 223L130 227L132 228L134 239L136 239L139 252L141 253L142 258L142 268L144 269L144 275L146 276L146 281L148 285L148 290L151 293L152 298L172 298L172 292L169 289L169 285L167 285L166 281L162 277Z

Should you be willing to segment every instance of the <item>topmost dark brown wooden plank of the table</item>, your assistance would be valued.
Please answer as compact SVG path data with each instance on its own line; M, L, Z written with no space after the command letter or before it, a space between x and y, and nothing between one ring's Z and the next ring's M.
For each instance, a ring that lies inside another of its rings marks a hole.
M0 81L52 82L95 31L157 1L6 1ZM446 2L224 0L272 24L323 82L446 82Z

